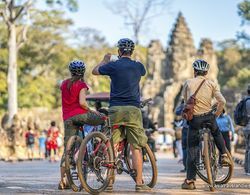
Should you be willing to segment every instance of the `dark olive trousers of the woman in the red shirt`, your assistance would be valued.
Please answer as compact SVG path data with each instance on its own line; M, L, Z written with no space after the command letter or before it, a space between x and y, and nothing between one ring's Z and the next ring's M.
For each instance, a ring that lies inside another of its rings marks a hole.
M65 150L68 140L71 136L77 135L79 127L84 124L97 126L103 124L102 114L97 115L95 112L88 112L86 114L79 114L64 121L64 153L61 159L61 166L65 166Z

